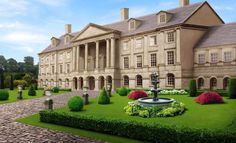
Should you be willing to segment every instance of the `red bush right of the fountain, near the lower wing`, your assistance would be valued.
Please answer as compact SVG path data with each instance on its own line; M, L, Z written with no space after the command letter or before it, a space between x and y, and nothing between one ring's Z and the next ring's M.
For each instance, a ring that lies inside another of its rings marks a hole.
M200 104L223 103L223 98L216 92L204 92L195 101Z

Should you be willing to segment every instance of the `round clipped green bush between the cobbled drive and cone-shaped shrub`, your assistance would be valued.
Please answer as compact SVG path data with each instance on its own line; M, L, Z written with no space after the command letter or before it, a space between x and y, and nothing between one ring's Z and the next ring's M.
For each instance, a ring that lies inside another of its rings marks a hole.
M84 107L84 101L80 96L73 96L68 101L68 107L71 111L81 111Z

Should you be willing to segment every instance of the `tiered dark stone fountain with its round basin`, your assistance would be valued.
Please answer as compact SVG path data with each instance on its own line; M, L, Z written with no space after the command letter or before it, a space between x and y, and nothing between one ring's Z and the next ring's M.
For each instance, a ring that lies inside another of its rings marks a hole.
M170 106L170 104L174 101L174 99L158 97L158 93L161 91L161 89L158 87L160 81L156 72L152 74L151 80L153 84L153 88L151 89L151 92L154 94L154 97L153 98L152 97L140 98L138 99L139 104L146 107Z

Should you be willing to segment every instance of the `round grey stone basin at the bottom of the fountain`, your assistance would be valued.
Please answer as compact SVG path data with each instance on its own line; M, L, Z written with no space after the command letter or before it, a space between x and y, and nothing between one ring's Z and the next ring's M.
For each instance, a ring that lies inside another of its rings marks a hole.
M170 106L172 102L175 100L172 98L158 98L157 101L154 101L152 97L144 97L138 99L140 105L145 107L163 107L163 106Z

